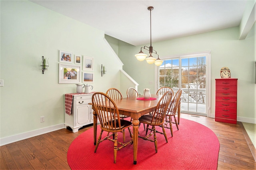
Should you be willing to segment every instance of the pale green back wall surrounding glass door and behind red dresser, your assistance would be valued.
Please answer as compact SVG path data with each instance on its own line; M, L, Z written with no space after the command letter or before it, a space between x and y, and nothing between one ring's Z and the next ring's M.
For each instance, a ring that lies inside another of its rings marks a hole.
M238 78L238 120L256 123L256 84L255 77L255 37L254 24L245 40L238 40L239 27L207 32L193 36L175 38L162 42L154 42L154 50L161 56L211 51L211 116L215 113L215 79L220 78L221 67L229 67L232 78ZM124 63L123 69L138 84L138 91L150 88L155 92L154 65L146 61L138 61L134 54L140 51L139 46L133 46L119 41L118 56ZM148 44L145 44L148 46Z

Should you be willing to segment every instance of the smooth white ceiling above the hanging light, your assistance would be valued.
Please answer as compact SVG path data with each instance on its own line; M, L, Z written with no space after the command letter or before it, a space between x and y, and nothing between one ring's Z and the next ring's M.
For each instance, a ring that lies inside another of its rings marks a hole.
M239 26L246 0L30 0L130 43L152 43Z

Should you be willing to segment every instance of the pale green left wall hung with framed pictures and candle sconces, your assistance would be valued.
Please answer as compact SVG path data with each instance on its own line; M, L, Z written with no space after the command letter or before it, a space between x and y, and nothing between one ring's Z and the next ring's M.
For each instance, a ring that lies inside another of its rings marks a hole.
M0 3L1 139L56 125L64 128L64 94L75 93L76 85L58 83L59 50L94 58L93 91L120 88L122 63L104 40L104 32L30 1ZM44 74L42 56L50 65ZM108 69L103 77L101 64Z

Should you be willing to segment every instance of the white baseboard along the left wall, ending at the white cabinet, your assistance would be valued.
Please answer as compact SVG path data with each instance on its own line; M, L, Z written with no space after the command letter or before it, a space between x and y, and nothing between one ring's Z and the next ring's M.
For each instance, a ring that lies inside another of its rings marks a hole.
M51 127L46 127L46 128L33 130L33 131L30 131L30 132L16 134L16 135L13 135L13 136L8 136L8 137L5 137L5 138L0 138L0 146L6 145L6 144L9 144L9 143L13 143L13 142L17 142L17 141L20 141L20 140L24 140L24 139L27 139L27 138L31 138L31 137L34 137L34 136L38 136L40 134L45 134L45 133L48 133L48 132L59 130L59 129L62 129L62 128L65 128L64 123L59 124L59 125L54 125L54 126L51 126Z

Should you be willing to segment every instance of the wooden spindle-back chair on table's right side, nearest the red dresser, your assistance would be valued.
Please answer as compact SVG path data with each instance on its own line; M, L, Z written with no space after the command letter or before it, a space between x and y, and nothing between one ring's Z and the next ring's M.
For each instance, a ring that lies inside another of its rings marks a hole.
M176 120L175 115L177 114L177 109L178 109L178 105L180 103L180 96L182 94L182 89L179 89L177 91L177 93L175 94L174 98L172 99L171 103L170 103L170 107L167 110L166 113L166 119L165 119L165 123L164 123L164 127L165 128L170 128L171 130L171 134L172 134L172 123L176 124L177 129L178 128L178 122ZM174 117L174 122L172 121L172 117ZM169 127L168 127L169 124ZM173 136L173 134L172 134Z

